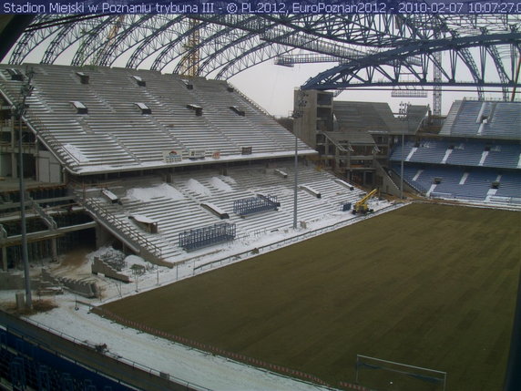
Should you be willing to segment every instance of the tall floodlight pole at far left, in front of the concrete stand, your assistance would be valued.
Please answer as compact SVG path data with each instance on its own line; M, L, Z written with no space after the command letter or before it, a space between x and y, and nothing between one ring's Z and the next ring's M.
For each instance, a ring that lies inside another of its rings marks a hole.
M29 258L27 254L27 229L26 229L26 183L24 181L24 150L22 149L23 132L22 118L26 114L26 98L31 95L33 87L31 79L34 76L32 69L26 71L27 82L20 89L21 101L15 105L15 118L18 118L18 180L20 191L20 222L22 226L22 261L24 262L24 279L26 287L26 308L33 308L31 293L31 275L29 270Z

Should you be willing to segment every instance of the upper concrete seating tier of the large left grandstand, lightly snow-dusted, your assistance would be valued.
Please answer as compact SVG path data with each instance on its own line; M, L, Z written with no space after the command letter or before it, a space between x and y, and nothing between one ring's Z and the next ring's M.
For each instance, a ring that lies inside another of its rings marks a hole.
M0 87L16 95L21 83L9 80L7 67L15 66L0 67ZM294 149L290 132L226 82L125 68L33 67L28 118L72 168L149 167L161 164L163 152L172 149L204 149L207 155L219 151L222 157L238 156L243 147L257 156ZM77 72L86 74L88 83ZM83 104L87 113L71 102ZM202 108L202 115L189 105ZM59 143L69 148L57 150ZM303 143L299 149L311 152Z

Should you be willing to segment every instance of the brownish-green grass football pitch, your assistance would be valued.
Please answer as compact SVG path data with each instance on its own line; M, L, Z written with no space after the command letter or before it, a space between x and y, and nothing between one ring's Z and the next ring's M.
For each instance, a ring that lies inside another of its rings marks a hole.
M361 354L500 390L520 238L520 212L413 204L104 307L332 385Z

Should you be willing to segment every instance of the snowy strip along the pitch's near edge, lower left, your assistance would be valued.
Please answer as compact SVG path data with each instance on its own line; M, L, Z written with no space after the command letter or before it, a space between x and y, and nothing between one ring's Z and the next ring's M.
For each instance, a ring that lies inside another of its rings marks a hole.
M59 308L33 315L30 320L91 345L107 344L110 355L125 357L185 382L228 391L326 389L139 333L96 314L89 314L87 305L79 304L78 310L75 310L75 300L70 294L60 297L58 301Z

